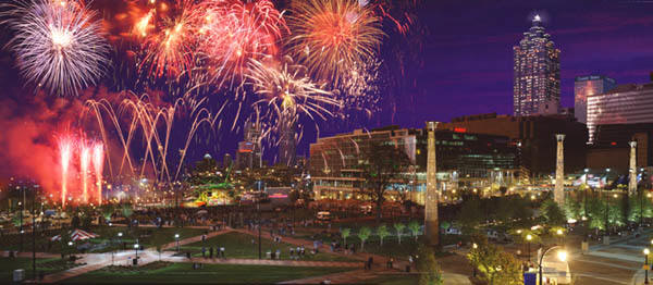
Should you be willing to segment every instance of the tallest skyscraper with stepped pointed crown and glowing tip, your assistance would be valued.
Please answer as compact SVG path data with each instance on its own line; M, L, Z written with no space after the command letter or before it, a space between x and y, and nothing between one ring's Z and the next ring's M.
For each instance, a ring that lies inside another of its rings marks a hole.
M540 15L513 47L515 82L513 109L516 116L557 114L560 109L560 50L544 33Z

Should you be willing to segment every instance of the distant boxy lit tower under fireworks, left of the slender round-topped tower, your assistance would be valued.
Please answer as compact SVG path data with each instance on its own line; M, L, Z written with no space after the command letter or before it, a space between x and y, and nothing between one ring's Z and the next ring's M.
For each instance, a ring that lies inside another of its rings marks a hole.
M237 169L259 169L261 168L261 127L254 122L245 124L245 137L238 142L236 152Z

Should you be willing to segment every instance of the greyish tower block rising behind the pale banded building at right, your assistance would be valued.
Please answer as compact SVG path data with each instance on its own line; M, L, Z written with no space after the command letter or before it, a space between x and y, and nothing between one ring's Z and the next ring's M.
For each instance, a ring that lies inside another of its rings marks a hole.
M576 77L574 83L574 112L576 121L588 123L588 96L604 94L616 87L613 78L603 75Z

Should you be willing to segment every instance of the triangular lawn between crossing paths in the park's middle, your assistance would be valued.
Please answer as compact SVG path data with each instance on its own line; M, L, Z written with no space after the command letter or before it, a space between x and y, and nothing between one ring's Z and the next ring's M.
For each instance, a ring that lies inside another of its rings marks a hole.
M209 247L224 247L224 256L225 258L241 258L241 259L258 259L258 244L251 244L251 239L255 243L258 243L257 236L231 232L222 235L214 236L212 238L207 239L206 241L197 241L194 244L185 245L181 247L182 251L190 251L194 257L201 257L201 247L206 247L207 257L209 256ZM261 238L261 251L263 258L266 258L267 251L276 251L276 249L281 250L281 259L288 260L289 259L289 248L297 248L297 246L293 246L291 244L282 243L276 244L270 239ZM306 256L301 258L301 260L311 260L311 261L356 261L346 257L330 255L326 252L320 252L317 255L311 255L310 247L306 247Z

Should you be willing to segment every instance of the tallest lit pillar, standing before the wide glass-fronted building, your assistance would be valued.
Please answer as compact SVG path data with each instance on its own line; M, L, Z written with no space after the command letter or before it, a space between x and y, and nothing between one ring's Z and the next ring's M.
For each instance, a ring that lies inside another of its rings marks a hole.
M435 159L435 128L438 122L427 122L428 157L427 157L427 199L424 201L424 235L429 244L440 244L440 225L438 223L438 163Z

